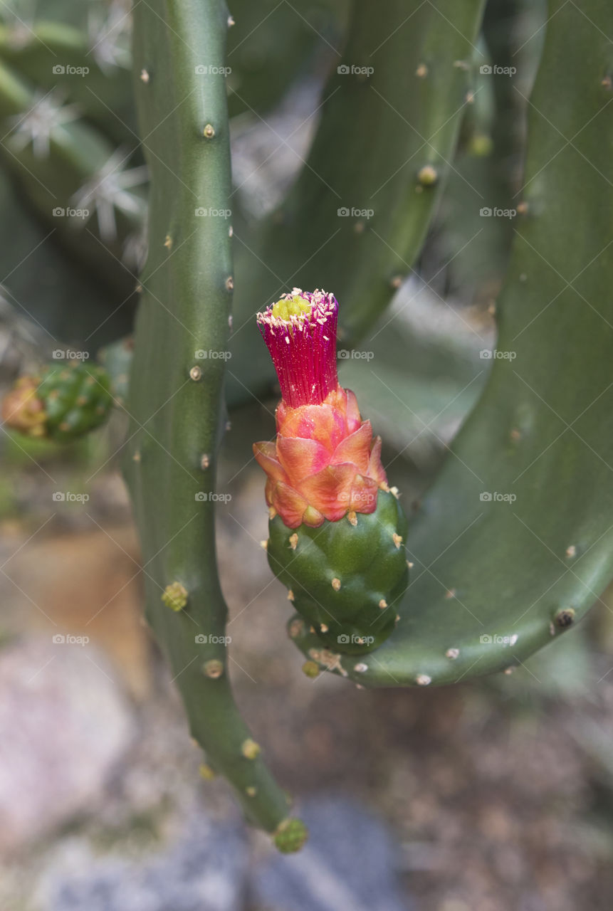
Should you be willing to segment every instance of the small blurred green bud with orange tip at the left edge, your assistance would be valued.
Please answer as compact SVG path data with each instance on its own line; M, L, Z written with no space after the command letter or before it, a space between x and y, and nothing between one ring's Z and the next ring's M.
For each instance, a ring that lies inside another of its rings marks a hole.
M5 425L28 436L68 443L107 420L113 398L107 372L80 361L54 363L20 377L5 395Z

